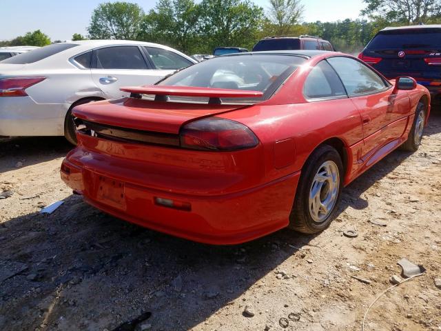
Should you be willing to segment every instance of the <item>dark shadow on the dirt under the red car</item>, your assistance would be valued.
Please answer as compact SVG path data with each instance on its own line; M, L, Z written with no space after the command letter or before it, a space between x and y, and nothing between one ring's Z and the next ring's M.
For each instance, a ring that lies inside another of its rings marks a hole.
M25 268L0 279L3 330L132 330L118 327L146 312L154 330L189 330L314 239L281 230L204 245L115 219L73 195L50 215L3 225L0 262Z

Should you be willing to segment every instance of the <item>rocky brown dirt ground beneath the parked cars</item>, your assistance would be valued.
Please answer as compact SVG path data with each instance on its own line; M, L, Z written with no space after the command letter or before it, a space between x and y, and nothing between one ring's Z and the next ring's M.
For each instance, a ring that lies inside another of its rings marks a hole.
M59 178L68 150L62 138L0 141L0 193L14 191L0 199L0 330L361 330L402 257L427 272L384 294L365 330L441 330L440 111L418 152L393 152L345 188L325 232L228 247L86 205Z

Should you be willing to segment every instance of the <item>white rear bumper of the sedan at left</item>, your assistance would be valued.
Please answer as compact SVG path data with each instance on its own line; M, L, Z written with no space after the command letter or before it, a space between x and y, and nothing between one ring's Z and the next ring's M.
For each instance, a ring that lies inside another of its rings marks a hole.
M0 136L62 136L70 105L0 97Z

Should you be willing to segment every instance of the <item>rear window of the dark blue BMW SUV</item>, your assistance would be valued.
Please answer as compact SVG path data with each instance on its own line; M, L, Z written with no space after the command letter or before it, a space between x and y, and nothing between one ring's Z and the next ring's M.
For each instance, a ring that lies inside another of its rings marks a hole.
M368 50L441 49L441 29L391 30L380 32L367 46Z

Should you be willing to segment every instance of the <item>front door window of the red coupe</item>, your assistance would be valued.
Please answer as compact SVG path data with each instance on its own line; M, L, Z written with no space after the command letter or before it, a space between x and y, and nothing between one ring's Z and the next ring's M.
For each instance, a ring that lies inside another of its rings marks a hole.
M387 87L376 72L359 61L349 57L331 57L327 61L342 79L349 95L376 92Z

